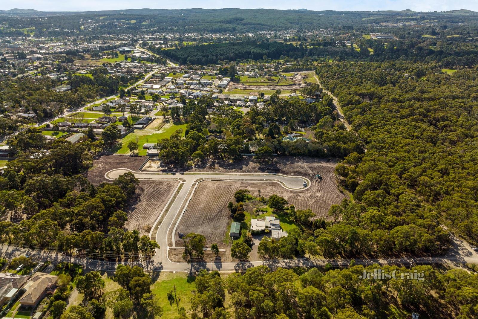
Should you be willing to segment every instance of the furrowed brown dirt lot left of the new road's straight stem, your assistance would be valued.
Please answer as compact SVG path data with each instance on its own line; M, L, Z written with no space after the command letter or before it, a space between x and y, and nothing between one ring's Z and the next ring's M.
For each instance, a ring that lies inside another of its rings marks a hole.
M137 229L141 235L147 234L149 231L143 227L148 224L153 226L178 184L178 181L141 181L136 190L138 198L127 209L125 227L128 230Z

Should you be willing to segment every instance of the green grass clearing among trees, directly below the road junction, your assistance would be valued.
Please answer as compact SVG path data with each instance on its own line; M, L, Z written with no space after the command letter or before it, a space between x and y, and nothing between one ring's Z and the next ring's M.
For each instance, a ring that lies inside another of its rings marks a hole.
M152 293L159 298L163 307L163 317L161 318L172 319L178 314L176 304L170 305L167 297L169 291L174 291L174 286L176 286L176 296L181 299L179 308L184 307L186 311L191 308L193 290L196 290L195 279L194 276L188 276L185 273L161 273L158 280L151 286Z

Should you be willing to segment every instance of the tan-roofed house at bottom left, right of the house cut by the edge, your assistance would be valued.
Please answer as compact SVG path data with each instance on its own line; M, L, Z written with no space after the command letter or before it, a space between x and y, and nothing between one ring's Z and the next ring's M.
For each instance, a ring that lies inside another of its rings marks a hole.
M47 294L53 293L59 276L46 273L35 273L25 284L26 289L19 302L22 306L34 307Z

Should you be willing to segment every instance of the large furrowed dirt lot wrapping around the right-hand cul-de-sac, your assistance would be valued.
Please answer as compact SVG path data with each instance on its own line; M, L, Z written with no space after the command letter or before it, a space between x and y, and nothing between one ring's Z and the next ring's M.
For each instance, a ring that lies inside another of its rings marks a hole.
M293 160L293 161L289 161ZM234 193L239 188L247 188L254 195L269 197L277 194L286 198L289 204L296 209L312 209L316 216L328 218L328 209L333 204L339 204L347 195L338 190L334 176L336 163L326 162L310 158L278 158L275 164L263 167L255 161L244 160L233 166L218 166L215 172L277 172L286 175L300 175L311 180L311 187L304 191L290 191L284 189L274 182L226 182L226 181L204 181L199 183L187 211L183 215L175 234L176 246L181 246L182 241L177 232L196 232L206 237L206 245L210 246L216 242L219 248L227 248L223 243L227 228L231 222L229 210L226 207L229 201L234 202ZM211 171L212 169L194 169L191 171ZM322 180L315 178L320 173Z

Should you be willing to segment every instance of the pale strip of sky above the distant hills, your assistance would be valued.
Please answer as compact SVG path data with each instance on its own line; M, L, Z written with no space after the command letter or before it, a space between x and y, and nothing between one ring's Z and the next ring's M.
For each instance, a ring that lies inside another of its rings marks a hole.
M478 11L478 0L175 0L175 1L131 1L131 0L1 0L0 10L13 8L39 11L93 11L120 9L186 9L186 8L242 8L255 9L308 9L337 11L405 10L448 11L468 9Z

